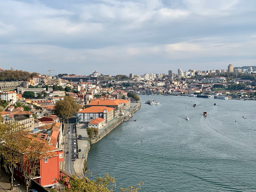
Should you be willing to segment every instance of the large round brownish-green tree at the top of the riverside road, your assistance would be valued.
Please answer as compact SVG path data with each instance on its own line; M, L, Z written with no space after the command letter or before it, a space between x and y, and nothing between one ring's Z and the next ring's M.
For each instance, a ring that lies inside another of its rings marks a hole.
M79 109L78 104L71 96L64 96L63 100L57 102L54 106L54 114L63 118L68 118Z

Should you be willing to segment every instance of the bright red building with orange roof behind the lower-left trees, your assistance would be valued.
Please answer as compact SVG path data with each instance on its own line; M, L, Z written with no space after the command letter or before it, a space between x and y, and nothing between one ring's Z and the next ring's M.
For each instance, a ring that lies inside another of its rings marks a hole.
M38 138L31 136L30 138L31 140L36 139L38 142L41 142L41 140ZM37 174L33 178L34 181L38 182L44 187L57 183L57 181L60 179L59 162L64 161L63 150L50 145L45 146L45 148L45 153L43 153L39 161L40 166L37 169ZM22 169L19 165L15 167L14 176L24 182Z

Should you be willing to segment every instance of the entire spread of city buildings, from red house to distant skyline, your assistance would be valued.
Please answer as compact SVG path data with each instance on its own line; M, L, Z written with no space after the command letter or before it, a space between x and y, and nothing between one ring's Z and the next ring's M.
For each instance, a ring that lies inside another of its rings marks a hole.
M214 84L227 87L228 84L245 83L246 90L239 90L240 93L254 92L254 86L250 85L253 80L249 79L226 79L217 77L215 74L224 72L255 74L256 70L249 67L233 67L228 65L227 70L205 70L188 71L172 70L168 74L145 73L144 75L129 74L129 80L116 80L114 76L98 74L94 71L88 76L64 75L61 78L49 75L32 77L26 81L27 86L18 86L16 90L0 90L0 100L8 101L5 111L1 111L3 123L17 122L30 131L31 139L46 140L54 155L42 156L36 182L42 186L50 186L57 183L57 180L65 174L59 163L64 159L64 153L60 148L62 142L62 123L59 117L54 115L54 105L69 95L75 99L80 110L76 113L78 122L88 123L88 127L102 128L106 123L117 116L124 115L130 108L130 100L127 92L143 94L199 94L212 92ZM204 75L214 74L210 78ZM196 75L196 78L194 77ZM29 85L32 87L29 88ZM42 87L48 85L47 88ZM53 90L52 86L69 87L70 91ZM22 95L25 91L44 93L44 98L26 99ZM230 91L219 91L217 94L227 94ZM22 106L17 107L16 102ZM30 111L24 110L24 105L30 107ZM36 118L35 118L36 117ZM17 166L15 176L21 180L22 172Z

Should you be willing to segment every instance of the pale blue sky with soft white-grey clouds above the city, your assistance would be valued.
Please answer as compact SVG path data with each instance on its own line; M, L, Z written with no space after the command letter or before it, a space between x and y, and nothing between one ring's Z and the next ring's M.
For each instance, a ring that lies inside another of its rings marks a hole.
M0 0L0 68L168 73L256 64L256 0Z

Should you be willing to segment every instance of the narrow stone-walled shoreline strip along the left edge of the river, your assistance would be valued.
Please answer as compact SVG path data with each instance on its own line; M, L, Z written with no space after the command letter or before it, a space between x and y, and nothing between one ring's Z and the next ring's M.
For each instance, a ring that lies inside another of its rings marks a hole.
M100 139L102 139L105 135L107 135L111 130L113 130L116 126L118 126L119 124L121 124L123 121L127 121L128 119L130 119L134 112L136 112L138 109L141 108L141 101L139 100L139 104L136 107L133 107L130 110L129 115L127 116L119 116L117 120L115 120L115 122L112 122L110 125L108 125L108 127L101 132L96 138L93 139L86 139L84 140L86 143L83 144L84 147L86 147L86 151L85 154L82 154L81 158L77 158L77 161L74 161L74 172L76 173L76 175L78 176L78 178L83 178L84 174L83 174L83 167L84 167L84 162L85 160L87 161L87 157L88 157L88 153L89 153L89 149L90 149L90 143L96 143L98 142ZM77 139L77 145L79 146L79 141L80 139ZM82 144L81 144L82 145Z

